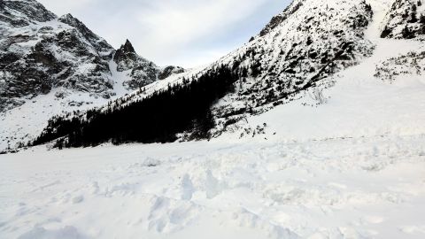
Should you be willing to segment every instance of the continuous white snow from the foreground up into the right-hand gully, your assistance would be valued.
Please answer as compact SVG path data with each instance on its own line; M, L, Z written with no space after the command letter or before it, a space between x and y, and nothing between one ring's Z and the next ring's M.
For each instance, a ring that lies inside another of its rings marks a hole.
M374 77L425 48L380 39L389 1L367 2L374 55L325 104L306 93L211 142L0 155L0 238L425 238L425 78Z

